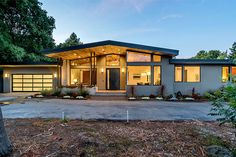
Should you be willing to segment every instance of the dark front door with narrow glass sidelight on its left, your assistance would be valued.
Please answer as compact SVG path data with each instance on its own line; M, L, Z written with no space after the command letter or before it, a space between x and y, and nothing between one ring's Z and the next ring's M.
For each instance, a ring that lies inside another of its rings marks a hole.
M107 68L106 70L106 88L107 90L120 89L120 69Z

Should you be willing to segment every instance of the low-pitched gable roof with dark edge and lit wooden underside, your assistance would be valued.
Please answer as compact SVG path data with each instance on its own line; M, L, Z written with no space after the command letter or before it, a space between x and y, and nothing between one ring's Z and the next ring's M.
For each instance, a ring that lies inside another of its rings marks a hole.
M125 55L127 51L154 53L158 55L165 55L172 57L177 56L179 54L179 51L174 49L125 43L112 40L88 43L65 48L43 50L42 53L52 58L61 58L63 60L74 60L80 58L88 58L91 56L92 53L94 53L95 56L108 55L108 54Z

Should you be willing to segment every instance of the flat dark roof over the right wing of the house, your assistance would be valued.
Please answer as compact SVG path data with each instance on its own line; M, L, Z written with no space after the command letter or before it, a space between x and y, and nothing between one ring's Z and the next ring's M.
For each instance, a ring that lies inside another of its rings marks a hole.
M229 59L170 59L170 64L189 65L236 65Z

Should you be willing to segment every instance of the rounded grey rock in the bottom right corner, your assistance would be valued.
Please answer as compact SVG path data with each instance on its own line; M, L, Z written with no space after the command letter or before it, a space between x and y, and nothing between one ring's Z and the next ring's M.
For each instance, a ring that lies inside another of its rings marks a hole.
M212 145L206 148L209 157L233 157L233 154L224 147Z

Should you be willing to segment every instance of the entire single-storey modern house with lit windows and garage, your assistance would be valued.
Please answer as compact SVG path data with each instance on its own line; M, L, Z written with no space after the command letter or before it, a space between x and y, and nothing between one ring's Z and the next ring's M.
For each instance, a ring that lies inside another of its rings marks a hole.
M56 58L55 63L18 63L0 65L0 91L25 92L58 86L95 86L99 92L125 92L158 95L192 89L204 94L234 81L236 65L230 60L175 59L178 50L101 41L42 51ZM131 88L132 87L132 88Z

